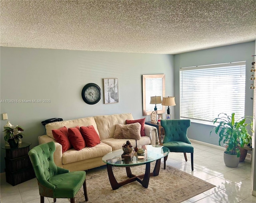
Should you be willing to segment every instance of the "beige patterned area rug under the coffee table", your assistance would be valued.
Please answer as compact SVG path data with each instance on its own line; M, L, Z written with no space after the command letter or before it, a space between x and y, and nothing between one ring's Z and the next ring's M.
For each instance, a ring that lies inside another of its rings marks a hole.
M151 170L154 169L151 163ZM134 175L145 172L146 165L131 167ZM127 179L125 168L114 167L114 175L118 182ZM161 168L158 176L150 177L148 188L144 188L138 181L134 181L116 190L112 190L106 167L98 171L86 172L87 203L180 203L194 197L215 185L194 177L176 168L166 166ZM86 203L83 187L75 197L76 203Z

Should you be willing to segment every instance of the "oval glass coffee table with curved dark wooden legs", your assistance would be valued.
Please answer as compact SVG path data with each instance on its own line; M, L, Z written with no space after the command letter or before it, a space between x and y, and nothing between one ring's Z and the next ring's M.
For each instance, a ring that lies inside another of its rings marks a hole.
M137 152L134 153L134 157L132 159L123 159L121 157L123 154L122 149L114 150L113 152L109 152L102 157L102 161L107 164L108 178L112 189L118 189L119 187L133 181L138 181L140 184L142 184L143 187L147 188L149 183L149 177L157 176L159 174L161 158L166 157L170 152L168 148L160 145L144 145L140 146L139 148L143 148L145 150L145 155L143 156L143 159L138 158ZM156 161L154 171L150 172L150 163L154 161ZM146 164L146 170L144 174L132 174L132 171L130 169L131 166L140 166L144 164ZM112 166L125 167L126 174L129 179L118 183L114 176Z

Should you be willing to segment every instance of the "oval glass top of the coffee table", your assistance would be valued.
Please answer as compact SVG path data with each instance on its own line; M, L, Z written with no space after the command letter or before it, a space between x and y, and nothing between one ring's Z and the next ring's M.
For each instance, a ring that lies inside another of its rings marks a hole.
M144 159L139 159L137 152L134 153L134 157L132 159L123 159L121 157L123 154L123 150L119 149L114 150L113 152L109 152L108 154L103 156L102 161L106 164L118 167L137 166L161 159L167 156L170 152L167 147L160 145L143 145L138 147L145 150L145 155L143 156Z

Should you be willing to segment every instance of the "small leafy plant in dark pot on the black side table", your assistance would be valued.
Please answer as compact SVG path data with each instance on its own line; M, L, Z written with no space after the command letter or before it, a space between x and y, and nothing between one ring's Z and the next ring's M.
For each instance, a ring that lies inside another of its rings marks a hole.
M23 138L21 131L24 131L21 126L16 126L16 128L13 128L12 125L4 126L4 140L10 144L10 148L18 147L19 140Z

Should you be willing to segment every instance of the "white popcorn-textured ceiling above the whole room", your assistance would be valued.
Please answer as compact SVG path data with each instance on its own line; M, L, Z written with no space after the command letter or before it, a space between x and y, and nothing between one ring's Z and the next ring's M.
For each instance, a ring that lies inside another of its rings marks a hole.
M256 0L1 0L1 46L176 54L256 39Z

